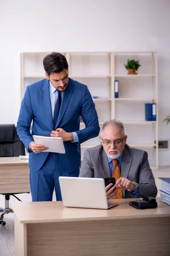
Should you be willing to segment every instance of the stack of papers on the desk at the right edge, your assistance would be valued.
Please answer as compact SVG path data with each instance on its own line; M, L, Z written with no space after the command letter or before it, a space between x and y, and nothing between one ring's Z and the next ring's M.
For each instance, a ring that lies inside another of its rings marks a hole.
M170 178L161 179L160 201L170 205Z

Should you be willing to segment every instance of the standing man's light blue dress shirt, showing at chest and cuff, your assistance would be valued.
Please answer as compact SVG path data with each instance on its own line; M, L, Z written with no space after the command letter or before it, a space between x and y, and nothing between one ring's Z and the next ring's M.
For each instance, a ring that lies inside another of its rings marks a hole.
M50 101L51 101L51 111L52 111L52 117L54 119L54 109L55 105L58 99L58 92L56 88L51 84L51 81L49 81L49 87L50 87ZM61 92L61 98L62 98L63 92ZM78 142L79 138L77 133L74 131L72 132L74 140L71 140L71 142Z

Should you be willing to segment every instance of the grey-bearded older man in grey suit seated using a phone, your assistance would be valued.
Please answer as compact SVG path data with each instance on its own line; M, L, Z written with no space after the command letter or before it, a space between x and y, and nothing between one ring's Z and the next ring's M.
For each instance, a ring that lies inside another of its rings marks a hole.
M147 152L130 148L122 122L103 124L102 144L84 153L79 177L115 177L116 185L106 186L107 198L156 197L157 188Z

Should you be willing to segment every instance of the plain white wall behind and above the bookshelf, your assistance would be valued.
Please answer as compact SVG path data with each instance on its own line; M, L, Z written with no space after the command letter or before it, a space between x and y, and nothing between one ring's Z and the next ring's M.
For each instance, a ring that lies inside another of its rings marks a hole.
M157 51L159 138L170 138L170 0L1 0L0 123L17 123L20 52L36 51Z

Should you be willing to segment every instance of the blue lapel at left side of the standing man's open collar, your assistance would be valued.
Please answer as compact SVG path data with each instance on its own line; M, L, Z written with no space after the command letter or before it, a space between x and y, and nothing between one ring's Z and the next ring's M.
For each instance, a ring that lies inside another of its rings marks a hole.
M44 106L44 110L47 118L49 119L52 130L54 130L53 118L51 113L51 101L50 101L50 92L49 92L49 81L45 79L45 82L42 85L42 88L39 89L42 103Z

